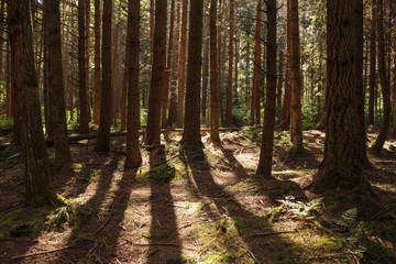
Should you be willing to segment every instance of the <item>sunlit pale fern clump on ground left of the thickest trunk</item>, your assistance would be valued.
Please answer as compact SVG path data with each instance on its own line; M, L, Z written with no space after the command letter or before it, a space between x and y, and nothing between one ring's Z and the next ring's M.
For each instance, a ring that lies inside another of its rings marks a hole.
M318 209L322 205L323 198L314 199L308 202L294 201L295 197L286 196L284 200L278 200L282 202L289 212L292 212L296 218L300 220L315 219L311 213L314 210Z

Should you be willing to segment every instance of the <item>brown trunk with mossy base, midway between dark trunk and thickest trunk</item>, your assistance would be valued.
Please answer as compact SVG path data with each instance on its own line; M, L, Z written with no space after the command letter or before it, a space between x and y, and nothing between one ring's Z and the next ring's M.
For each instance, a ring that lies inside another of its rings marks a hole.
M290 11L290 81L292 81L292 143L294 153L302 153L301 68L299 46L298 0L289 1Z

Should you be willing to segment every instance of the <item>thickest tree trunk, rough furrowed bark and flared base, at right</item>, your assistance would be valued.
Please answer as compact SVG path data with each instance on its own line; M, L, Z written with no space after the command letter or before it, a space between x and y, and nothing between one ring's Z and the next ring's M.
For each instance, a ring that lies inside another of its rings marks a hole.
M353 7L327 1L326 141L322 165L312 189L370 189L359 161L355 136Z

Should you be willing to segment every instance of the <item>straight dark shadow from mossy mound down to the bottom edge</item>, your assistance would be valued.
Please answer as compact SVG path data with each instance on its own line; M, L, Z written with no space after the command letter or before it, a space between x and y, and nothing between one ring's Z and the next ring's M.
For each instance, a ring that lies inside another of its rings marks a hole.
M150 248L147 251L148 264L182 263L180 240L176 223L174 201L170 194L170 180L175 177L175 169L156 164L165 161L165 152L161 151L150 155L150 187L151 187L151 215Z

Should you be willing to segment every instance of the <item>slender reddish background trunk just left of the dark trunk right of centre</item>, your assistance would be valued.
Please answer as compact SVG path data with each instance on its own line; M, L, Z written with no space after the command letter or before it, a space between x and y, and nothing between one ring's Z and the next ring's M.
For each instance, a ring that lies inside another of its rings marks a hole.
M251 124L257 124L256 112L257 108L257 97L260 102L260 87L261 87L261 32L262 32L262 1L257 1L256 7L256 28L255 28L255 44L254 44L254 61L253 61L253 87L252 87L252 97L251 97ZM258 92L257 92L258 91ZM260 110L258 110L260 111Z

